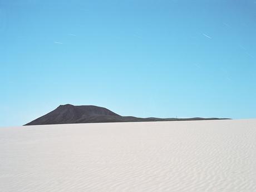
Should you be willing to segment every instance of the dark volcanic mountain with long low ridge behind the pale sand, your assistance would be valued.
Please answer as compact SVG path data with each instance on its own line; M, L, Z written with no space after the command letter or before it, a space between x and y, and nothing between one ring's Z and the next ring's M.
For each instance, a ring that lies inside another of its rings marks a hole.
M111 110L93 105L60 105L55 110L26 125L68 124L68 123L106 123L106 122L156 122L173 120L215 120L219 118L137 118L121 116Z

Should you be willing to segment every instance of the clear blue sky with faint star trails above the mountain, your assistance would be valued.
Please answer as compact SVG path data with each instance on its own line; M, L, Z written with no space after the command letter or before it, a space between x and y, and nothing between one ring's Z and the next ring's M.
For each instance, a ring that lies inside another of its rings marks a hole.
M256 118L255 0L0 0L0 126L60 104Z

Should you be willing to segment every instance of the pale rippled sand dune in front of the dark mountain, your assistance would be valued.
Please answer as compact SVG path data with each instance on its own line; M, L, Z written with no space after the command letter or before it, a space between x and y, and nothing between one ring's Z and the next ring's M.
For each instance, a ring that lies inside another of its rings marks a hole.
M0 191L256 191L256 119L0 128Z

